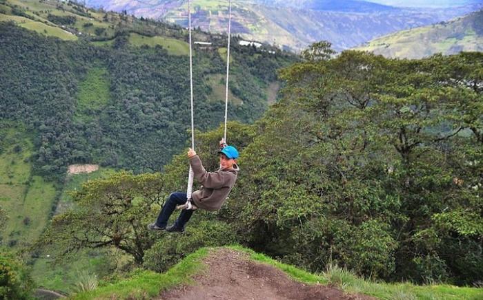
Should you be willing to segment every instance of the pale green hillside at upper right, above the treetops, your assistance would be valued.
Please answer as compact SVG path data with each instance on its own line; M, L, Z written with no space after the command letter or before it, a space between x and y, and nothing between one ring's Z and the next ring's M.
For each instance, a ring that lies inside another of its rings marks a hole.
M483 10L435 25L403 30L368 42L355 50L386 57L422 58L436 53L483 51Z

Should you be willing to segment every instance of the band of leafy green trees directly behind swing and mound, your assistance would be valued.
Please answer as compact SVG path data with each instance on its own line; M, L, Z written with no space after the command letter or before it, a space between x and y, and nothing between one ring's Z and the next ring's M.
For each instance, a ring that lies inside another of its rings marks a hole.
M241 171L221 211L196 211L176 238L143 230L186 186L180 153L163 173L83 186L81 209L57 215L43 244L59 255L110 245L161 272L200 246L237 242L313 272L480 286L482 68L480 52L296 63L263 118L230 123ZM197 136L207 169L221 132Z

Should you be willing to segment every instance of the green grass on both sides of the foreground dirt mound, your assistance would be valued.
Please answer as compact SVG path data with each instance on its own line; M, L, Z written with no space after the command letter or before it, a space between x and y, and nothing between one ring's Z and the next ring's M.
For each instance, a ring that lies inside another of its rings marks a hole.
M250 259L268 264L294 279L306 284L331 284L342 288L345 292L368 294L379 299L483 299L483 290L477 288L461 288L449 285L415 286L412 283L380 283L368 281L353 275L348 270L333 266L326 272L316 275L305 270L282 264L266 255L242 246L228 246L232 250L247 253ZM159 292L180 284L191 284L191 276L204 269L202 259L216 248L200 248L188 255L168 272L159 274L147 270L139 270L130 279L124 279L92 292L75 295L74 299L138 299L155 297Z

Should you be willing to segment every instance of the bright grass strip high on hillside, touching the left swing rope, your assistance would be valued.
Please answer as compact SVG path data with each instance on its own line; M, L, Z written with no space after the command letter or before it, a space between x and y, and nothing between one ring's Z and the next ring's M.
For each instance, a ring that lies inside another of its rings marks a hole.
M137 33L131 33L129 35L129 43L135 46L148 45L149 47L160 45L168 51L168 54L171 55L190 54L188 43L163 36L144 36Z

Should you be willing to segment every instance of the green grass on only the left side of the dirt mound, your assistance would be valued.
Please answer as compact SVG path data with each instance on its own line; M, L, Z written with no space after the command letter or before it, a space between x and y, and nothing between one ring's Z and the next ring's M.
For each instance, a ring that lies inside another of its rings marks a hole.
M76 294L73 299L147 299L159 296L159 292L181 284L193 283L191 277L204 269L201 259L208 255L208 248L201 248L188 255L168 272L148 270L134 272L130 279L102 286L90 292ZM142 298L141 298L142 297Z

